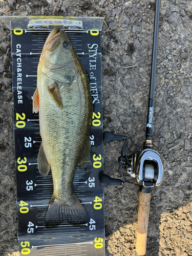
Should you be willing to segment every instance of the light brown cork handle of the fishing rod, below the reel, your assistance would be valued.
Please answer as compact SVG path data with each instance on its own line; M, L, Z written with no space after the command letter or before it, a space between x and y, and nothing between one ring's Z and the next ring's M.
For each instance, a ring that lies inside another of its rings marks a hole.
M138 227L136 255L146 254L146 240L148 228L148 216L150 214L151 193L145 194L139 191Z

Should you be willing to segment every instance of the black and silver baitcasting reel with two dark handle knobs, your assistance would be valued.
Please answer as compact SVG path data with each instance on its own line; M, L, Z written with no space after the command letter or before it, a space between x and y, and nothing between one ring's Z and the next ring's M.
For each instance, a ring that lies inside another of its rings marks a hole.
M136 178L139 185L143 187L159 186L163 180L163 163L159 153L151 148L146 148L142 152L135 152L130 156L126 156L125 151L125 156L123 156L127 138L122 135L114 135L110 132L104 133L104 143L123 139L125 142L122 146L121 156L118 159L122 181L103 174L100 180L101 186L124 185L123 167L127 174Z

